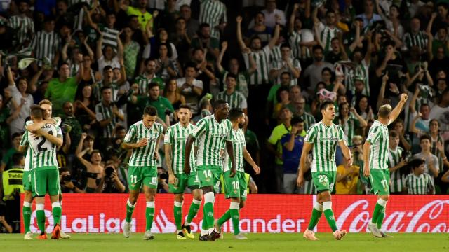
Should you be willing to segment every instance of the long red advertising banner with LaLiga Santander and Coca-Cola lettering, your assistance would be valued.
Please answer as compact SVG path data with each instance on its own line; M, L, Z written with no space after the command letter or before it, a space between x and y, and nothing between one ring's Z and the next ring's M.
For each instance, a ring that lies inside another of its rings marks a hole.
M241 209L242 232L303 232L307 228L314 195L248 195ZM65 194L62 200L61 226L64 232L122 232L126 214L125 194ZM373 195L333 195L333 211L338 228L348 232L366 232L377 197ZM185 195L183 218L187 216L192 195ZM152 232L174 233L173 195L156 196ZM229 200L217 195L215 218L229 208ZM53 230L51 204L46 204L47 232ZM194 218L192 230L199 231L202 207ZM33 204L32 232L37 231ZM232 232L232 225L223 226ZM382 227L387 232L449 232L449 195L391 195ZM145 197L140 195L133 214L133 232L145 232ZM324 216L317 232L330 232ZM23 227L22 227L23 232Z

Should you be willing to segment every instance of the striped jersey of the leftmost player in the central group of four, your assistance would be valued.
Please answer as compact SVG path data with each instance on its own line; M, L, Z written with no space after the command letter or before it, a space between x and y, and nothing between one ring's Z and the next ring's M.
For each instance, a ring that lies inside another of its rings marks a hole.
M162 133L163 128L159 123L153 123L152 127L149 129L145 127L142 120L131 125L125 136L125 143L134 144L144 138L148 141L146 146L133 148L133 154L131 155L128 164L136 167L156 167L157 160L154 160L154 152L159 148L159 137Z

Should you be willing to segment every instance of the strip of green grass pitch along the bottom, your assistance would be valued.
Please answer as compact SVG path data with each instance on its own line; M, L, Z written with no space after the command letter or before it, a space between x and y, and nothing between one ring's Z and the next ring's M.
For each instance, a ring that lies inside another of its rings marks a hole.
M318 233L319 241L302 239L302 234L249 234L248 240L237 241L231 234L217 241L198 239L177 240L173 235L156 234L154 240L145 241L142 234L131 234L126 239L122 234L71 234L72 239L46 241L23 240L23 235L0 235L0 251L448 251L449 234L390 234L391 238L374 238L368 233L348 234L335 241L330 233ZM195 234L196 238L199 234Z

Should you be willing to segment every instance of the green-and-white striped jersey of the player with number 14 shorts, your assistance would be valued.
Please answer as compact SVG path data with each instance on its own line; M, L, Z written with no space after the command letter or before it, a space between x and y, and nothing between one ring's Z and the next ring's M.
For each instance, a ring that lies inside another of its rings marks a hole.
M201 118L196 129L190 134L199 139L196 165L222 166L220 151L225 148L225 141L232 141L232 125L230 120L218 123L214 115Z

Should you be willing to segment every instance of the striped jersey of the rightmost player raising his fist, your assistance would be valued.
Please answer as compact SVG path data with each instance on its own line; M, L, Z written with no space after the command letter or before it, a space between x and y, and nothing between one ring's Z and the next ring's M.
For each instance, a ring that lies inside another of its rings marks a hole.
M368 132L366 141L371 144L370 151L370 168L371 169L388 169L388 128L379 120L375 120Z

